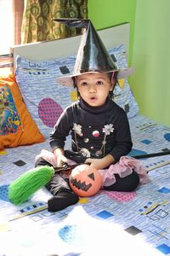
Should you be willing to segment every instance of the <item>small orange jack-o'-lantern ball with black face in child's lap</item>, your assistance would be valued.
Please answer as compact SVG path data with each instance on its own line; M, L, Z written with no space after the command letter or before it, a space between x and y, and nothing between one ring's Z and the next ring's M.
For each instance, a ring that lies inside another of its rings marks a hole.
M80 165L74 168L70 176L71 189L80 196L96 194L102 184L99 172L91 166Z

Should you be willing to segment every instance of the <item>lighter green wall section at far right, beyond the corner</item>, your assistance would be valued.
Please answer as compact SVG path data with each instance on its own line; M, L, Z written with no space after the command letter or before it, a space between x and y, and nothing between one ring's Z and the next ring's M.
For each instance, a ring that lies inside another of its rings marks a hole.
M170 125L170 1L137 0L131 77L140 113Z

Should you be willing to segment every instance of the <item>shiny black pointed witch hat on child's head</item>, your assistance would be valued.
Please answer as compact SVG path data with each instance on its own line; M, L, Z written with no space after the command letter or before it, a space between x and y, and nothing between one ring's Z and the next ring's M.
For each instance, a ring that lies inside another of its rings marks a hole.
M59 77L59 84L73 84L72 77L81 75L82 73L111 73L117 72L117 79L127 78L133 73L133 68L118 69L115 62L105 48L99 34L95 31L92 22L88 19L54 19L65 23L67 26L85 28L82 34L82 41L78 49L77 60L73 73Z

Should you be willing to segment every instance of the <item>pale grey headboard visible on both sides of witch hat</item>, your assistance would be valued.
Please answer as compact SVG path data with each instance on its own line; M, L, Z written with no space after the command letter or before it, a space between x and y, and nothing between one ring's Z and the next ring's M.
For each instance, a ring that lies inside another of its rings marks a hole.
M128 55L130 34L129 23L105 28L103 30L99 30L98 32L107 49L124 44ZM15 45L13 47L14 70L15 58L17 55L25 57L30 61L51 60L68 55L77 55L81 38L82 36L77 36L53 41Z

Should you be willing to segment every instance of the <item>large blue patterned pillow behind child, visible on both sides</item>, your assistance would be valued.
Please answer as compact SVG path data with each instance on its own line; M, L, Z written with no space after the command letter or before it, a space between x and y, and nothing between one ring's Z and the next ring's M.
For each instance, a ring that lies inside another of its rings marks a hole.
M127 67L124 46L110 50L118 67ZM77 90L57 84L56 77L72 73L75 56L47 61L29 61L17 56L16 80L26 107L44 137L48 138L60 113L72 102L77 101ZM138 113L130 86L125 81L120 90L116 85L116 102L125 109L129 118Z

